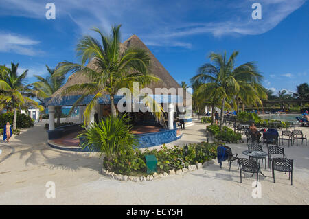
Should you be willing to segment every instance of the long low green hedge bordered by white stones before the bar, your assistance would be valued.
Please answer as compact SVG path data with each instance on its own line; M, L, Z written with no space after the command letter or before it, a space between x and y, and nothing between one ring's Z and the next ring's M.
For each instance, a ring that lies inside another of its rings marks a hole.
M155 154L157 157L157 172L169 172L169 170L179 170L187 168L189 165L204 163L211 159L216 159L217 147L223 146L224 143L190 143L184 148L174 146L167 148L162 146L159 150L148 150L141 152L138 149L127 150L119 154L113 160L104 158L104 168L111 167L116 174L126 174L132 176L146 175L145 155Z

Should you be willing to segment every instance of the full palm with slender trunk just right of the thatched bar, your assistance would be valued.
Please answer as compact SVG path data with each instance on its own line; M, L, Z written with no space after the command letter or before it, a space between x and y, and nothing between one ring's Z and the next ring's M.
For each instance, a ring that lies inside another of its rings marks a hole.
M262 75L258 73L257 67L253 62L247 62L238 67L234 63L238 56L238 51L233 51L229 59L225 54L211 53L209 58L214 65L206 63L198 69L198 74L192 80L201 80L204 83L198 89L199 93L208 93L215 100L221 101L221 121L220 130L222 130L223 113L225 106L229 107L228 99L235 97L241 89L252 91L255 89L251 83L260 83Z

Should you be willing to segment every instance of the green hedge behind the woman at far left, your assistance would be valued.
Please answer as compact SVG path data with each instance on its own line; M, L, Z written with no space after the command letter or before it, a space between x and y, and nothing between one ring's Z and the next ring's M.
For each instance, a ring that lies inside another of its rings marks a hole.
M13 125L14 113L8 112L0 115L0 127L3 128L7 122ZM17 112L16 128L30 128L34 126L34 120L30 116Z

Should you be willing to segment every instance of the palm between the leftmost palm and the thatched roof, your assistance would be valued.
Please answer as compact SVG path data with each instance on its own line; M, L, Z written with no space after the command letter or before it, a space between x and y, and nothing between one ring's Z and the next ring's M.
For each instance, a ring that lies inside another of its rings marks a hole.
M44 103L45 98L49 98L62 87L65 83L65 76L59 75L54 76L56 72L56 68L51 69L48 65L46 65L46 69L49 73L49 76L43 78L41 76L34 76L38 80L38 82L34 82L29 84L30 87L33 88L33 93L36 95L38 100ZM61 106L56 106L56 117L57 117L57 124L60 124L60 117L61 117Z

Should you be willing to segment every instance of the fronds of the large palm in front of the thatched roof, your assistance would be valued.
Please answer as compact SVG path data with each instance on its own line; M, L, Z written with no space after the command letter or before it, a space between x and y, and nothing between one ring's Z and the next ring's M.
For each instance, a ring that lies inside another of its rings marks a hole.
M93 95L92 100L87 104L84 111L84 121L89 122L91 109L94 108L101 97L108 93L111 100L111 113L117 115L115 108L115 95L117 91L126 87L133 91L133 82L139 82L141 87L157 82L160 79L148 73L150 57L144 49L129 48L122 51L120 42L121 25L113 26L111 36L106 36L97 28L93 31L100 34L101 43L91 36L84 36L77 45L78 56L81 63L61 62L56 74L63 75L69 71L76 73L80 71L89 78L88 83L75 84L67 87L62 95L82 92L83 95L73 104L72 108L84 100L85 97ZM85 66L87 62L93 61L93 69ZM150 108L150 104L148 105ZM161 108L161 107L160 107ZM163 113L153 112L154 115L163 119Z

